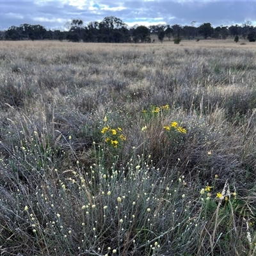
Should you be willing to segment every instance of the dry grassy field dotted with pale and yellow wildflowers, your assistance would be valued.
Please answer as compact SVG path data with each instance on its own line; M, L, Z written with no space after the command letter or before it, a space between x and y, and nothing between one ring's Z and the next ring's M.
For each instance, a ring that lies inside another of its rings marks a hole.
M0 68L1 255L255 255L256 44L0 42Z

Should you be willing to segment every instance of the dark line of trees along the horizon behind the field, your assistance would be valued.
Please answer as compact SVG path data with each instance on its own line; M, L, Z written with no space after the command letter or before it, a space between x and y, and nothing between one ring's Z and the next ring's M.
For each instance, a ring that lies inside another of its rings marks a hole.
M152 42L151 35L157 35L158 40L163 42L164 38L174 38L174 42L179 44L182 39L195 39L199 36L203 38L226 39L234 36L238 42L239 37L248 39L250 42L256 41L256 27L252 22L247 21L239 25L218 26L213 28L211 23L204 23L198 27L195 21L191 26L152 25L133 26L128 28L121 19L116 17L105 17L101 22L89 22L84 26L83 20L72 20L68 31L47 30L41 25L21 24L19 27L11 26L5 31L0 31L0 40L68 40L70 42L104 42L104 43L127 43L127 42ZM154 40L153 40L154 42Z

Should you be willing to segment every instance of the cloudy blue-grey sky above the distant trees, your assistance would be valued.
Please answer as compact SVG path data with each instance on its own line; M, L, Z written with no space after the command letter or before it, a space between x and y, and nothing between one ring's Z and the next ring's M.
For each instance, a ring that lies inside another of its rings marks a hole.
M210 22L220 25L243 24L246 20L256 26L256 0L254 1L1 1L0 29L20 24L40 24L46 29L64 29L72 19L101 21L114 16L128 26L157 24L195 26Z

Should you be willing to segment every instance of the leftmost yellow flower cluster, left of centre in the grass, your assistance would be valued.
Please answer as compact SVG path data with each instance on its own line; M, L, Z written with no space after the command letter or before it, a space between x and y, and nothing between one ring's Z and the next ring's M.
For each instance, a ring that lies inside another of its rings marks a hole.
M104 141L114 148L118 146L120 141L126 140L124 134L122 133L122 128L120 127L113 129L109 126L105 126L102 128L101 133L105 135Z

